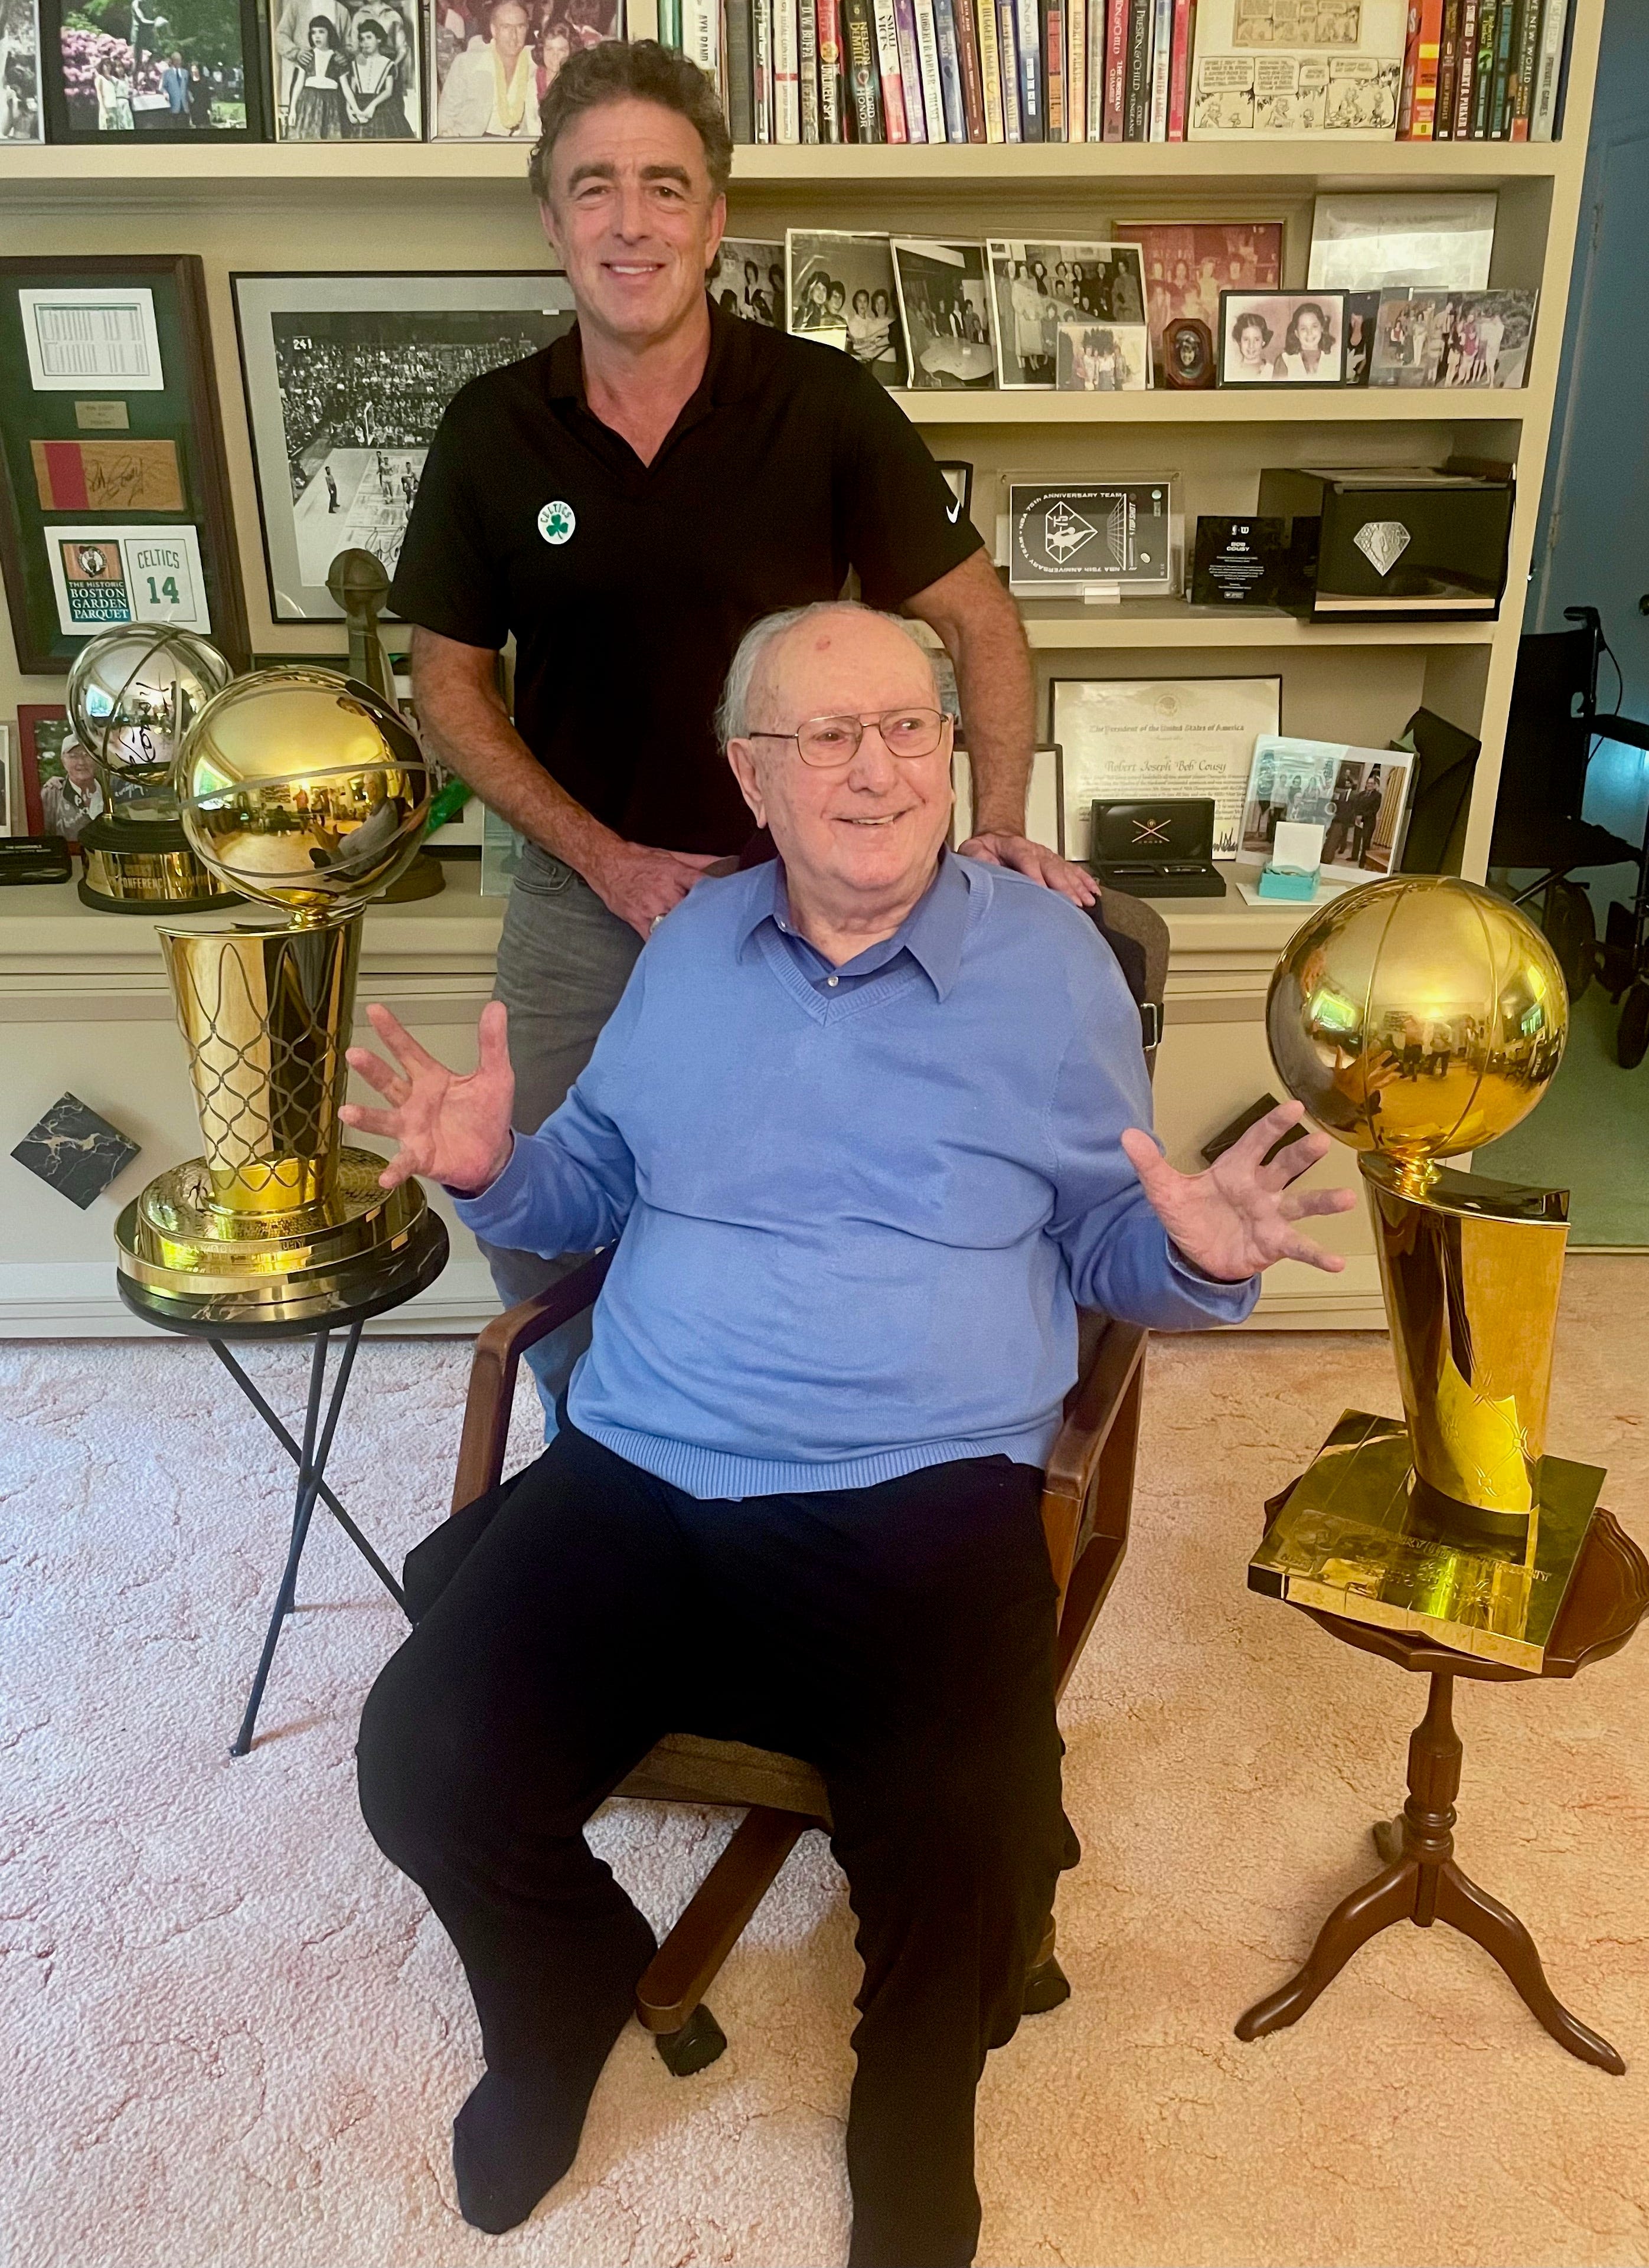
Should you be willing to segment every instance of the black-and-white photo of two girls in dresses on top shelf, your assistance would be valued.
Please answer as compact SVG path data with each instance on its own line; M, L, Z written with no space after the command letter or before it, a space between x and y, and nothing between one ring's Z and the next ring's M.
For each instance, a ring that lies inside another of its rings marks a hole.
M422 141L417 0L272 0L277 141Z

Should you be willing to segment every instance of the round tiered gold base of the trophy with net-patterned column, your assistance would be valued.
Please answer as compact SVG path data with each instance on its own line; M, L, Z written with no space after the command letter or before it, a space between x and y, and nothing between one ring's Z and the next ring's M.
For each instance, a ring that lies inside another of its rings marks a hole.
M417 1182L379 1188L383 1159L340 1150L333 1191L290 1213L225 1216L202 1159L172 1166L116 1222L127 1306L172 1331L279 1336L365 1320L433 1284L447 1229Z

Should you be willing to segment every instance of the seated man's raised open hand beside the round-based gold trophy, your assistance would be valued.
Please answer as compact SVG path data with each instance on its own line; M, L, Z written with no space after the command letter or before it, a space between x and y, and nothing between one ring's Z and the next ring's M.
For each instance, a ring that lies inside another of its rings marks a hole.
M481 1009L476 1068L465 1075L438 1064L377 1000L367 1016L392 1061L386 1064L372 1048L349 1048L349 1064L367 1086L377 1086L390 1109L370 1111L358 1102L345 1102L338 1116L347 1127L388 1134L399 1143L379 1175L379 1188L399 1188L415 1173L465 1195L490 1188L508 1166L515 1141L510 1134L515 1075L504 1002L488 1000Z

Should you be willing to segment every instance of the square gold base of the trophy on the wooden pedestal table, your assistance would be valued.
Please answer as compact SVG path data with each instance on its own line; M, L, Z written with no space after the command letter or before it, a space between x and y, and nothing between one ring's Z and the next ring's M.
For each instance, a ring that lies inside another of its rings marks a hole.
M1542 1456L1508 1538L1415 1474L1397 1417L1345 1411L1266 1529L1248 1588L1538 1676L1601 1486L1601 1465Z

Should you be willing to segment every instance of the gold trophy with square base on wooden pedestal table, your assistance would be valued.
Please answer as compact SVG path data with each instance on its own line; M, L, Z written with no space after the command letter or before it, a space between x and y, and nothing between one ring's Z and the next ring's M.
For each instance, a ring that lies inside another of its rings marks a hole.
M1266 1032L1361 1152L1404 1415L1345 1411L1250 1588L1538 1672L1604 1486L1545 1447L1567 1191L1440 1159L1511 1132L1556 1073L1556 955L1472 882L1370 882L1295 932Z

